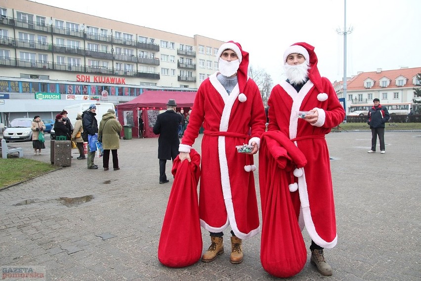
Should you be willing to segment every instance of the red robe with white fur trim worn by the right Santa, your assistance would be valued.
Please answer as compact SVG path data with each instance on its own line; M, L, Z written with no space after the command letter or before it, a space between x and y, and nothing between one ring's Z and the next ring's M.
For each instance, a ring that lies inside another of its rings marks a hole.
M298 191L292 192L291 196L299 225L301 230L305 225L317 245L333 248L337 243L337 232L325 135L343 121L345 111L331 82L320 77L316 55L312 50L309 52L310 80L299 93L286 81L273 88L268 100L268 131L286 134L304 154L307 165L302 168L302 175L298 178L292 176L298 184ZM297 111L311 109L316 109L319 114L315 124L297 117Z

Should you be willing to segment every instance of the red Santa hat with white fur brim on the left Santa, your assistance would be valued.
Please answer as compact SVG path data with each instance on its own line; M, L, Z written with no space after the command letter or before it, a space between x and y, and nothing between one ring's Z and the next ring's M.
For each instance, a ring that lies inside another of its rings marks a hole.
M216 54L218 61L221 58L222 52L226 49L233 50L237 54L238 60L240 61L240 66L237 70L237 79L240 93L244 93L244 88L246 87L247 83L247 73L249 70L249 53L243 50L240 43L229 41L219 47L218 53Z

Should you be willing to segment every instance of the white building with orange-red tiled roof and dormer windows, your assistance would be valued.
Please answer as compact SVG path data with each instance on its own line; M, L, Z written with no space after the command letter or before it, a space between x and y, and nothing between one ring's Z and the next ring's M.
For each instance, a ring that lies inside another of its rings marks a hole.
M421 67L359 72L347 79L346 96L343 96L343 83L335 82L333 86L339 98L345 98L346 112L351 105L373 104L374 98L379 98L381 104L407 103L413 99L420 100L414 94L414 88L421 87L417 74Z

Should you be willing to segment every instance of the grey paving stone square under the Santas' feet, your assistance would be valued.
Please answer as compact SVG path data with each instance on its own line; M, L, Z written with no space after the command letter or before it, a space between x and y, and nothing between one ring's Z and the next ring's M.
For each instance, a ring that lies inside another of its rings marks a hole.
M199 152L201 138L194 145ZM290 280L420 280L421 133L386 132L385 154L367 153L368 132L331 133L326 139L337 211L338 243L325 250L333 276L322 277L307 250L304 269ZM10 145L23 147L25 157L50 161L49 141L37 156L31 142ZM72 166L1 190L0 265L44 266L46 280L60 281L278 280L261 266L260 235L244 241L238 265L229 262L229 251L186 268L160 264L158 242L173 181L168 161L170 182L159 184L157 147L157 139L122 139L118 171L103 171L98 158L100 168L88 170L73 149ZM258 195L258 184L256 190ZM83 198L66 206L64 197ZM203 229L202 234L205 251L210 238ZM303 236L308 248L306 230ZM228 239L224 243L229 249Z

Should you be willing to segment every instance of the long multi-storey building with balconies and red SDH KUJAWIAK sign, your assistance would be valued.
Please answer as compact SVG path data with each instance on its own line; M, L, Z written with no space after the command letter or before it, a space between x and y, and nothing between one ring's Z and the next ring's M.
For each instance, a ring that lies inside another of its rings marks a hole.
M224 43L28 0L2 0L0 13L5 124L22 114L43 114L39 110L51 111L43 116L50 118L82 100L118 104L145 90L196 91L218 70L216 54Z

